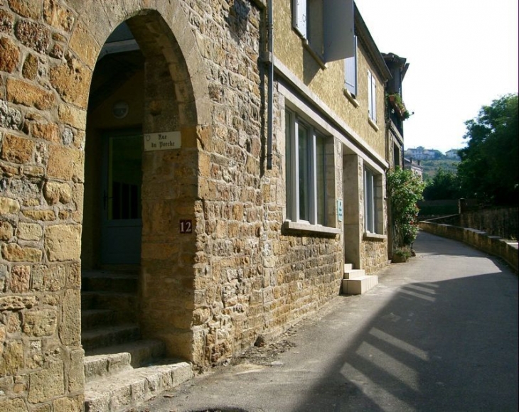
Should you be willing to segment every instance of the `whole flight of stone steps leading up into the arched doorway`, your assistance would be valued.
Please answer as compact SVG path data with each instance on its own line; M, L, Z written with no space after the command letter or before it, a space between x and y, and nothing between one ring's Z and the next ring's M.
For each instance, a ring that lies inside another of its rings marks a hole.
M164 359L166 345L141 340L134 273L82 273L85 411L122 412L193 377L193 368Z

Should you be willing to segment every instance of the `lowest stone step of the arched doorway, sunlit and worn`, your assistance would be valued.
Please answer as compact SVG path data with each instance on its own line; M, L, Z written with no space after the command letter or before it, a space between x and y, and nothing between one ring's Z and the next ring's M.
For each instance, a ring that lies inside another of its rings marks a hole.
M123 412L192 379L188 362L157 364L102 376L85 384L85 412Z

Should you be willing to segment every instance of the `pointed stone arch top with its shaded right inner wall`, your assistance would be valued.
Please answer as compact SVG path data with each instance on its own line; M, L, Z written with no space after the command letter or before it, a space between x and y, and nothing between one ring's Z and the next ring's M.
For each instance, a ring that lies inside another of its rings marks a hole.
M119 9L107 10L109 21L103 21L105 16L98 20L92 18L94 6L86 6L81 11L84 17L77 23L70 46L77 57L87 63L85 66L80 60L74 60L75 67L82 71L80 84L84 85L84 79L92 74L89 70L97 70L94 59L100 53L98 44L104 44L109 34L107 23L113 27L121 17L129 17L127 26L144 55L142 78L136 80L144 87L143 108L139 114L141 131L143 134L172 131L180 134L180 148L142 153L142 237L137 307L142 335L165 342L169 356L193 360L191 319L196 235L178 237L178 222L195 222L196 219L197 130L210 119L208 89L195 37L186 29L186 16L176 6L168 5L168 9L164 6L164 10L160 10L161 7L139 11L136 5L136 9L125 13ZM102 28L100 23L104 23ZM78 36L82 43L75 41ZM70 63L68 67L70 70ZM70 99L70 103L77 104L77 101ZM85 101L80 105L86 107ZM66 109L72 112L75 108ZM88 128L94 124L90 109L87 119L88 146ZM139 124L139 121L134 123ZM87 195L88 190L85 191L85 205ZM88 219L86 212L85 208ZM95 234L90 236L95 237ZM83 242L86 242L85 237Z

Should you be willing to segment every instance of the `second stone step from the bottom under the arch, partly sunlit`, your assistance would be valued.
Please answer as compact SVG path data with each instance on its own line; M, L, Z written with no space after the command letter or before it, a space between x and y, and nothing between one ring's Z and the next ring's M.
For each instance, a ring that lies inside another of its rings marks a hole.
M166 345L160 340L137 340L85 352L85 380L114 374L127 367L144 367L164 357Z

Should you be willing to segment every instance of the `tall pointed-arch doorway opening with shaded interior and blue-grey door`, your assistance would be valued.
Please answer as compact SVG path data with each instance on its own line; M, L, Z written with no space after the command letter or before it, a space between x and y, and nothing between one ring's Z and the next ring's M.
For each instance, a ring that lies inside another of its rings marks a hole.
M87 357L129 340L137 346L153 340L160 348L149 349L152 356L193 360L196 241L194 234L178 235L179 221L195 221L197 198L193 136L200 99L183 53L192 37L182 30L177 40L159 13L141 12L117 26L97 58L87 111L81 256ZM205 78L198 89L204 84ZM175 144L145 143L164 134Z

